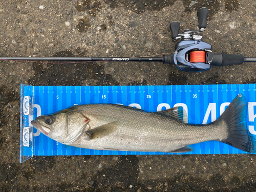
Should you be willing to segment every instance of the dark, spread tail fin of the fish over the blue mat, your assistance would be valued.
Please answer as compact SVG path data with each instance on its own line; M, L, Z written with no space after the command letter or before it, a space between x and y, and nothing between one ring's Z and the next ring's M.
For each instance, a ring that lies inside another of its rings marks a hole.
M244 95L239 94L229 104L225 112L217 121L227 125L228 136L221 142L239 148L245 152L256 153L256 141L249 132L246 123L248 102Z

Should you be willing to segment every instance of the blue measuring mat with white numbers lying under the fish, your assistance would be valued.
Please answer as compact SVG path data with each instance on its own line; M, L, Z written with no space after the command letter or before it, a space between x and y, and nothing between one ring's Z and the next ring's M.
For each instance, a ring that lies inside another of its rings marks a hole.
M33 86L32 86L33 87ZM26 91L26 90L23 90ZM220 117L228 104L244 94L248 101L247 124L255 135L256 117L255 84L214 84L186 86L35 86L34 118L66 109L76 104L118 103L148 112L183 106L188 123L210 123ZM160 155L162 152L98 151L71 147L58 143L33 131L33 154L50 155ZM192 152L182 154L244 154L246 152L218 141L190 145ZM181 153L179 153L181 154Z

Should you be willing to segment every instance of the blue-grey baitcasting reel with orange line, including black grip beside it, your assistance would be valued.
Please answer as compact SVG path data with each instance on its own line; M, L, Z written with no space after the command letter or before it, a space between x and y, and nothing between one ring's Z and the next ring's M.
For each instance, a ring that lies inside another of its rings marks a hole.
M202 41L202 36L196 35L205 30L207 15L207 8L203 7L198 10L199 30L197 31L185 30L183 33L179 33L180 23L173 22L170 24L173 40L181 39L181 41L176 44L176 51L173 55L173 62L180 70L201 72L210 69L211 65L226 66L242 64L244 62L243 55L230 55L225 53L214 54L214 52L211 51L211 45ZM164 60L164 63L166 62L172 63L169 58Z

